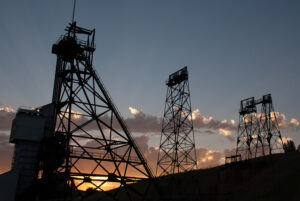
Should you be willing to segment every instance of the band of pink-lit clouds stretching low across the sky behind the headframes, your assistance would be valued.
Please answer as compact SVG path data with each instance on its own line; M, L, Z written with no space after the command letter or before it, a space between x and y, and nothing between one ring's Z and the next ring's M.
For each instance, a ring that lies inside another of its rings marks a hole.
M142 110L134 107L129 107L133 117L125 118L125 123L128 125L132 132L136 133L156 133L160 134L162 127L162 118L153 115L145 114ZM88 121L87 117L82 116L81 113L72 111L73 121L76 125L80 126ZM8 131L11 129L11 122L16 114L16 111L9 107L0 108L0 130ZM260 117L261 114L257 114ZM300 123L296 118L287 120L285 114L278 112L272 113L272 117L277 118L279 128L284 132L295 132L300 130ZM237 132L237 125L235 120L216 120L213 117L206 117L201 114L199 109L192 112L192 116L188 118L193 119L194 130L200 134L220 134L226 137L229 141L234 141L232 134ZM110 116L103 115L101 117L103 122L109 124ZM121 129L121 126L113 118L113 127L117 130ZM72 125L75 128L75 125ZM91 122L84 127L86 130L97 130L98 125L95 122ZM105 129L105 126L104 126Z

